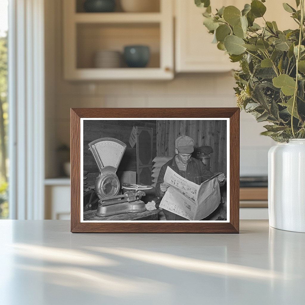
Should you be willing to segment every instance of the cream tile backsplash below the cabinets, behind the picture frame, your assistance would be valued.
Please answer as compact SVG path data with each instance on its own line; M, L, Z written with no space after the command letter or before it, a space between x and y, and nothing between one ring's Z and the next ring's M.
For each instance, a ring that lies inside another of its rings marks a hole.
M234 78L227 74L185 74L172 81L71 83L57 78L55 128L58 145L70 141L70 107L235 107ZM273 141L247 113L240 119L240 174L267 175Z

